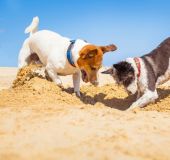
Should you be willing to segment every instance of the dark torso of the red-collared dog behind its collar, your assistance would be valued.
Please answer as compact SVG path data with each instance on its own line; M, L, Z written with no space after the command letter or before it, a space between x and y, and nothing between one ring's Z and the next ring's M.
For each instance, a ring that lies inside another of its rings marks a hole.
M170 77L170 38L141 58L145 63L149 79L157 84L168 80Z

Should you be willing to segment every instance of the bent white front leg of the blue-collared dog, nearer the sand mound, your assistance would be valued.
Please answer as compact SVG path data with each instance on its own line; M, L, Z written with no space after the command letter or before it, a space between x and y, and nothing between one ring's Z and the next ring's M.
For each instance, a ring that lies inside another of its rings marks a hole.
M63 87L60 77L50 65L46 66L46 71L54 83L56 83L59 87Z

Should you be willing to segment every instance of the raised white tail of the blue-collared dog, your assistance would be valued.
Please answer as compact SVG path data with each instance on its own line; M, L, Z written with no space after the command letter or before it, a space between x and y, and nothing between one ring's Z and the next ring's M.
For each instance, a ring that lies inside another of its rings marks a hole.
M31 36L32 34L37 32L38 24L39 24L39 18L38 17L34 17L32 19L31 24L25 29L25 33L30 33L30 36Z

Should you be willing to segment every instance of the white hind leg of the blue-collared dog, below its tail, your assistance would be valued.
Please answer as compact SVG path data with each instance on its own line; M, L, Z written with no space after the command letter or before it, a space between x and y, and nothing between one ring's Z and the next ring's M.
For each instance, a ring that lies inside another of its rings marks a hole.
M31 55L30 47L28 44L28 40L25 40L18 57L18 67L22 68L28 65L29 56Z

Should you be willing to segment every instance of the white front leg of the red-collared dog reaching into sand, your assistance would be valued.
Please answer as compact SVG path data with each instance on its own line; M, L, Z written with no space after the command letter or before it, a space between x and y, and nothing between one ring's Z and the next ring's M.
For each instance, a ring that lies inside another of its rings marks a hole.
M158 98L157 91L147 90L142 97L140 97L136 102L132 103L132 105L127 110L132 110L136 107L144 107L150 102L154 102Z

